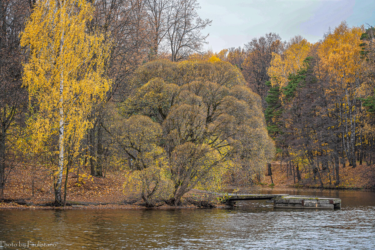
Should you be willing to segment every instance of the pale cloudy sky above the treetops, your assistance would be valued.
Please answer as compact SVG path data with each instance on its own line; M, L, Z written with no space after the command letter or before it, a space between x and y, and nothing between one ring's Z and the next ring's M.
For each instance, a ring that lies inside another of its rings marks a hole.
M219 52L254 37L278 33L282 40L301 35L317 42L342 21L375 26L375 0L198 0L202 19L212 20L205 49Z

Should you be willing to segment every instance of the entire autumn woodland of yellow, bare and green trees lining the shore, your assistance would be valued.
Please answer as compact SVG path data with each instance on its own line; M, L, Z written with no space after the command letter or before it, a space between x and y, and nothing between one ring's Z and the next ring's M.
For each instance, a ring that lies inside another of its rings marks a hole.
M63 204L69 173L80 186L118 171L154 207L261 183L275 160L322 187L341 168L373 170L374 28L342 22L317 43L268 33L214 53L198 8L1 0L1 193L12 171L34 185L43 170Z

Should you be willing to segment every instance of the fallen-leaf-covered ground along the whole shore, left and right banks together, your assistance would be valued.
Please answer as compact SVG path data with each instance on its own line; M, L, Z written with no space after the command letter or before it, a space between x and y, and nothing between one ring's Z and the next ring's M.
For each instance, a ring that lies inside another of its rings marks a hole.
M286 166L284 164L280 166L280 162L272 163L272 173L275 187L321 188L318 180L314 181L308 171L301 170L302 180L297 182L293 172L287 174ZM267 174L266 168L265 174ZM329 173L321 174L323 188L374 190L374 171L365 164L358 165L357 168L341 167L339 175L341 182L338 186L335 186L332 175ZM41 178L33 179L32 176L41 176ZM125 178L123 171L111 171L107 172L105 178L93 178L89 175L89 169L83 169L77 182L77 173L69 173L66 195L67 206L63 209L145 208L141 199L130 191L124 190ZM52 206L54 197L52 179L46 169L33 172L30 172L28 168L17 169L13 171L8 180L4 193L0 197L0 208L57 208ZM270 176L265 176L260 184L263 187L272 187ZM256 187L255 190L252 190L252 193L257 193ZM190 191L184 195L183 205L177 208L197 208L201 205L201 201L205 204L209 201L214 206L224 206L207 193ZM163 204L157 208L171 209L176 207Z

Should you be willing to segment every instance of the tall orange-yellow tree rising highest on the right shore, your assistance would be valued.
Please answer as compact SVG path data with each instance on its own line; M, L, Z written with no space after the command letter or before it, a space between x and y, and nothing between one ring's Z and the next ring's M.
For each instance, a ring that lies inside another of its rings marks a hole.
M356 167L356 143L358 115L360 112L360 86L362 85L364 61L361 58L360 37L363 27L348 27L342 22L321 44L321 72L329 75L333 85L341 89L339 104L342 121L345 154L350 165Z

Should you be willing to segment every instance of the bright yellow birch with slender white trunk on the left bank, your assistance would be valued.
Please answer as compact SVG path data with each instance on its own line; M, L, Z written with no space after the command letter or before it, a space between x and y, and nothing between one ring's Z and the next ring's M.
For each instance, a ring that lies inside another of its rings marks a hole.
M84 0L42 0L21 37L21 45L30 49L23 79L30 98L30 129L36 145L50 145L51 156L58 155L54 169L58 204L67 163L64 149L78 152L92 126L87 116L93 100L103 100L110 89L102 74L109 46L102 34L87 30L92 16L92 5Z

